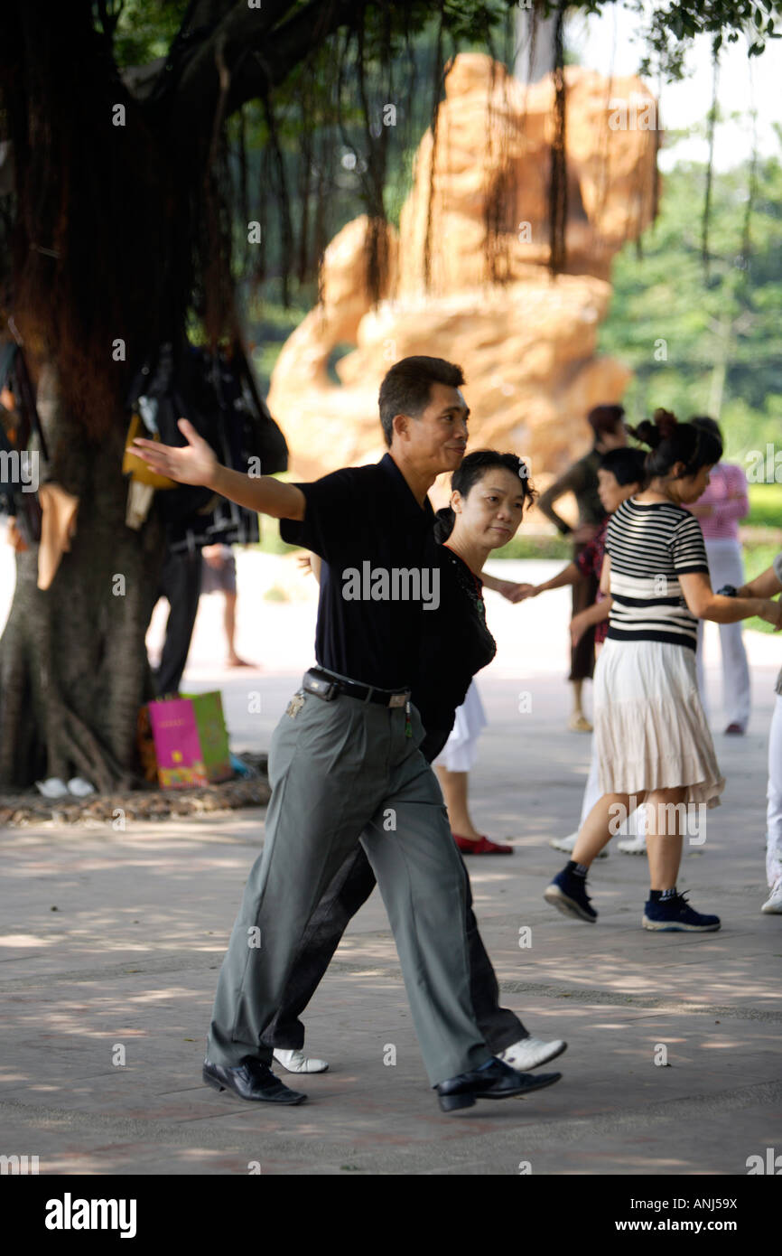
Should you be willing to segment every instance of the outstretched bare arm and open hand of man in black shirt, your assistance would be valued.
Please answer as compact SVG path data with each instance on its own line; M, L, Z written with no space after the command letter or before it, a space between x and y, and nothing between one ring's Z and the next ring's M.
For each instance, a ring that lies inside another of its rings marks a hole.
M294 484L282 484L270 475L256 479L241 471L231 471L217 461L211 445L198 436L192 423L181 418L178 428L187 445L161 445L158 441L137 437L129 452L177 484L202 485L235 501L237 506L246 506L247 510L256 510L272 519L304 519L306 499L301 489Z

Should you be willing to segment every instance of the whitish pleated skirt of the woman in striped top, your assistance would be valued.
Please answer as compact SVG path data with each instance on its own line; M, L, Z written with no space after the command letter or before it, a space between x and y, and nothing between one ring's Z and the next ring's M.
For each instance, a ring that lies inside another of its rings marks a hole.
M695 678L695 652L609 638L595 667L595 747L603 794L685 789L718 806L724 789Z

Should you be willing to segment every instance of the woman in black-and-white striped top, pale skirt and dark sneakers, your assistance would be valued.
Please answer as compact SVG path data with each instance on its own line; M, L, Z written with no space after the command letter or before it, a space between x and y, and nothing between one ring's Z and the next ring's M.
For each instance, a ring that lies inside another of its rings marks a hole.
M712 592L697 501L722 456L720 441L655 411L633 432L650 447L648 487L611 516L600 587L610 593L608 641L595 671L595 737L603 798L581 826L572 859L546 889L565 914L594 922L586 874L638 805L646 804L650 893L644 928L703 932L677 889L682 839L704 840L705 809L724 788L695 679L698 619L761 615L782 627L782 604Z

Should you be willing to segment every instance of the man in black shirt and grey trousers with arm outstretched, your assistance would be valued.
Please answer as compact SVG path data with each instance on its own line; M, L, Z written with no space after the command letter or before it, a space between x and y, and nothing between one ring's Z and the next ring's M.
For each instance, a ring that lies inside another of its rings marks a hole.
M203 1079L244 1099L305 1098L274 1076L262 1034L306 923L359 840L389 914L441 1108L517 1095L560 1076L515 1073L490 1054L476 1025L464 869L439 785L418 749L424 730L410 702L423 617L438 598L427 491L464 452L462 383L461 369L439 358L397 363L379 397L389 455L313 484L228 471L185 420L185 448L134 442L171 479L299 521L297 539L330 573L320 590L319 666L272 736L266 840L215 996Z

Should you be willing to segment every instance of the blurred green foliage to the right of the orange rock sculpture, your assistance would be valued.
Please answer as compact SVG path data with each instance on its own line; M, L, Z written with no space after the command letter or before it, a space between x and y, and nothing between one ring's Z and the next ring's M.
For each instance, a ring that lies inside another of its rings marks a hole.
M615 261L599 342L635 372L625 398L634 421L656 406L683 418L719 407L713 417L732 458L778 442L782 430L782 166L777 158L758 165L744 254L749 177L748 166L714 173L708 274L705 170L679 165L665 177L643 256L628 245Z

